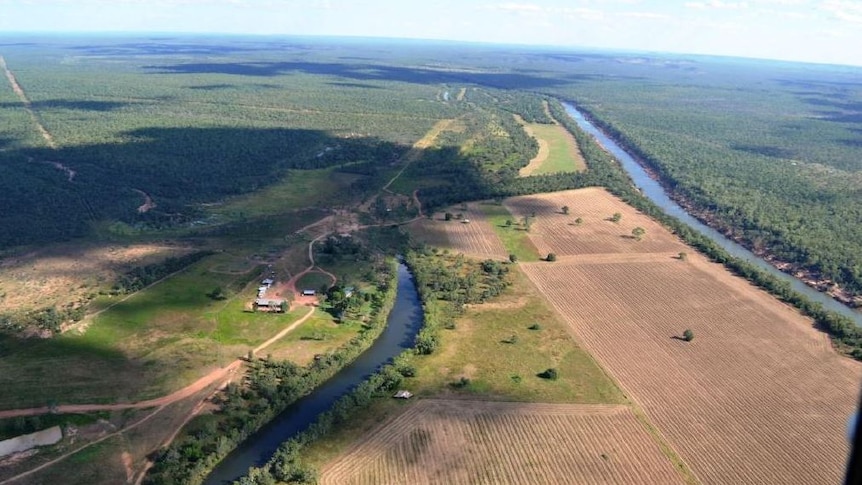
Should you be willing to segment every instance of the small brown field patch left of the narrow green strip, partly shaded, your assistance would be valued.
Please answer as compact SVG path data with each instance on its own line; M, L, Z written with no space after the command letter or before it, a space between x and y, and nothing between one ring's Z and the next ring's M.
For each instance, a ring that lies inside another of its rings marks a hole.
M478 203L467 204L466 210L461 206L452 207L448 212L460 213L464 219L453 218L451 221L445 221L440 217L422 220L414 224L411 231L429 244L468 256L498 259L508 257L509 253Z

